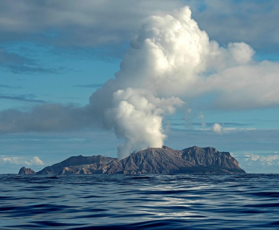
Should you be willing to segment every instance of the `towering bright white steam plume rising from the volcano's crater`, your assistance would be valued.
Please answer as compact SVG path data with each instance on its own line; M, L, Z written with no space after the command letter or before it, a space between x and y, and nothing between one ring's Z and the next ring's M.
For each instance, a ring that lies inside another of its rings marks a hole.
M113 127L125 139L118 147L119 159L135 149L162 147L163 116L183 104L177 96L205 70L209 51L207 33L191 19L189 7L152 16L142 26L115 79L91 96L91 106L101 109L105 127ZM107 104L99 107L100 100Z

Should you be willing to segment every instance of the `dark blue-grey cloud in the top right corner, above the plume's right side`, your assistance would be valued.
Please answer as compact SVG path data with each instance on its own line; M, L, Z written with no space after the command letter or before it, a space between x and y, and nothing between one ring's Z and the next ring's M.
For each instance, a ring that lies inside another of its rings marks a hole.
M279 6L276 0L205 0L201 4L202 11L199 7L191 6L194 18L218 43L244 41L259 52L266 52L267 49L277 52L279 37L274 26L278 20Z

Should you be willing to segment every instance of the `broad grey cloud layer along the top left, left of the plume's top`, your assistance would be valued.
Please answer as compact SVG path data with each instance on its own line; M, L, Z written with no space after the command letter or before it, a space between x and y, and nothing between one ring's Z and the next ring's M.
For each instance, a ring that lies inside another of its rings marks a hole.
M96 46L126 41L143 19L181 1L4 0L0 9L1 40L34 40L59 46Z

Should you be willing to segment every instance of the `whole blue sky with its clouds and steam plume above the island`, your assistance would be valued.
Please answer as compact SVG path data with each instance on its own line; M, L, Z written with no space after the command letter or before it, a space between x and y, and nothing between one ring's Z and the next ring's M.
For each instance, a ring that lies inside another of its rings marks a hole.
M279 173L277 0L0 2L0 174L148 147Z

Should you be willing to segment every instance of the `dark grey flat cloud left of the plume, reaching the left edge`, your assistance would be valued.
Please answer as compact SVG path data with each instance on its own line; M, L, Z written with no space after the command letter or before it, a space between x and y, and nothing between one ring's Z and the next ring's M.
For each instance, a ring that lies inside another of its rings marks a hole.
M87 107L43 104L32 111L8 109L0 112L0 133L79 130L101 126Z

